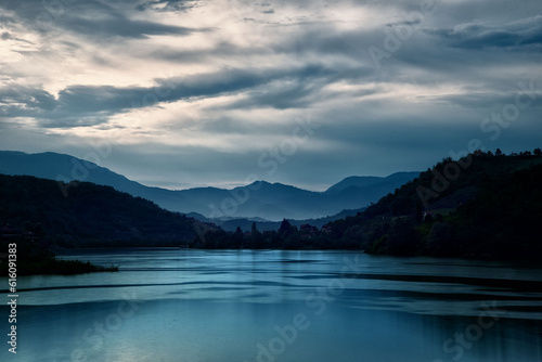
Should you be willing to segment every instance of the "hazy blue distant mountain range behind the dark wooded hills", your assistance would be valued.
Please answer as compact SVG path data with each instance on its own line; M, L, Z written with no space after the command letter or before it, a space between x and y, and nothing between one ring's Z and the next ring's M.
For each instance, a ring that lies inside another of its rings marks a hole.
M133 196L143 197L158 206L202 219L260 218L259 221L286 219L318 219L343 210L360 209L416 178L420 172L398 172L380 177L349 177L324 192L313 192L282 183L256 181L251 184L224 190L195 188L167 190L151 188L131 181L107 168L88 160L57 153L27 154L0 152L0 173L33 176L66 182L59 183L59 192L69 193L76 188L69 181L86 181L108 185Z

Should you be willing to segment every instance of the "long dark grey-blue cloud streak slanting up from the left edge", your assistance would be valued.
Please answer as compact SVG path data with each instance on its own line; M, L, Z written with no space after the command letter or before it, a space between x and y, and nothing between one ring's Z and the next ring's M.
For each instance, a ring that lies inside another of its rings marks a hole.
M56 99L43 90L20 87L0 92L0 102L10 104L2 109L8 117L41 118L46 120L44 127L80 127L104 122L109 116L129 109L159 106L162 102L238 93L283 81L293 86L280 87L275 93L261 91L260 95L238 103L235 108L300 106L304 102L308 104L305 99L318 93L319 83L325 83L325 77L334 73L320 65L299 69L224 69L191 77L160 78L156 79L157 86L151 88L70 86L60 91Z

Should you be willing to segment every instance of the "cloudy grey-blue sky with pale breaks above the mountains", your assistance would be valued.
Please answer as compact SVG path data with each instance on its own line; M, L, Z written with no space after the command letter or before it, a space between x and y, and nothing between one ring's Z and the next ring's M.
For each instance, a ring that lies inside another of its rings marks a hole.
M0 0L0 150L322 190L542 146L541 55L540 0Z

